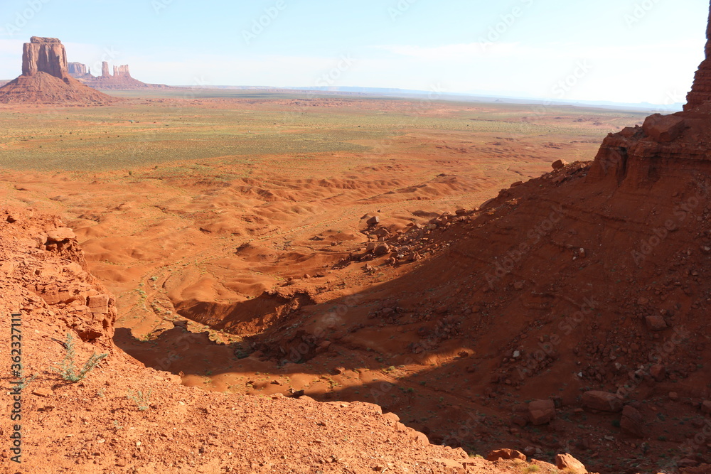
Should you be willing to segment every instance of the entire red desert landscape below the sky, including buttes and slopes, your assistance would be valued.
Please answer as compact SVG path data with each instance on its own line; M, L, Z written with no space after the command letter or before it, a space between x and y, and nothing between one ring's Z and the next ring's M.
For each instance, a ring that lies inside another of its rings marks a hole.
M711 473L708 59L650 115L19 53L3 472Z

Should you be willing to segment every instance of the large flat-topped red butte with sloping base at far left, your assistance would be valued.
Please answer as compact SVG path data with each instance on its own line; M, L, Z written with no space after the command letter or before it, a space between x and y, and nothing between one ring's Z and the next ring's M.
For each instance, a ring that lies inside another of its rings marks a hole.
M113 97L83 85L69 73L57 38L33 36L22 49L22 75L0 87L0 103L108 103Z

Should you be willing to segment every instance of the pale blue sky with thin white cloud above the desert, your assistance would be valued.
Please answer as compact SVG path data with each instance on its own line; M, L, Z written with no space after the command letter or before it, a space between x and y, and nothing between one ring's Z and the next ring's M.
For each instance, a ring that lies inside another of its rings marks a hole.
M70 61L170 85L665 104L690 88L707 14L706 0L2 0L0 78L50 36Z

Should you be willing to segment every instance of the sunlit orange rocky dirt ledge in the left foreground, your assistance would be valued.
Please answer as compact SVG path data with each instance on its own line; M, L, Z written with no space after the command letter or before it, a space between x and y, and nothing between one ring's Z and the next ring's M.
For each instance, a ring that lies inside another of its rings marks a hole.
M1 211L0 237L0 311L21 315L27 382L16 421L21 464L6 449L15 433L12 406L1 410L0 434L8 443L0 454L3 472L517 473L528 467L432 446L373 404L183 387L179 377L146 369L112 345L112 297L87 274L71 231L55 217ZM1 321L9 335L10 318ZM76 337L78 367L92 352L108 354L77 383L55 372L68 332ZM0 357L9 361L4 340ZM7 370L2 381L16 387ZM539 465L542 473L553 470Z

